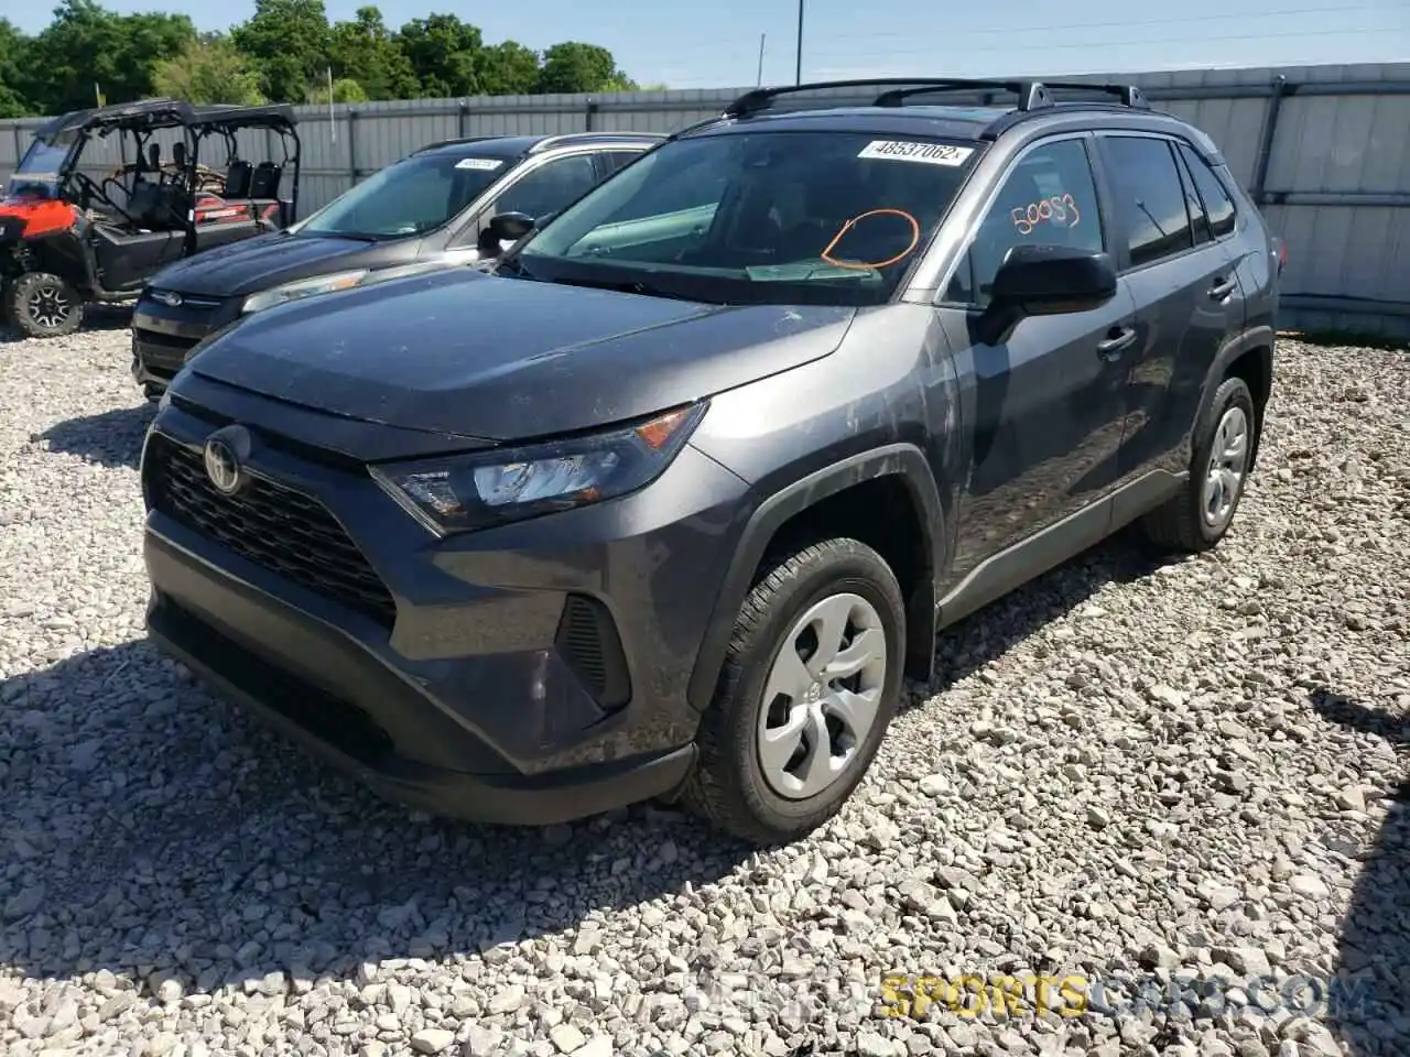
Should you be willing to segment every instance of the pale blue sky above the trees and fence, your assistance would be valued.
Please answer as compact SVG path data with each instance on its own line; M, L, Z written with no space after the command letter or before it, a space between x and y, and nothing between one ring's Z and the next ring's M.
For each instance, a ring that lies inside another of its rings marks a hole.
M368 0L327 0L330 20ZM223 30L254 0L103 0L117 11L180 11ZM1211 66L1410 61L1410 0L1129 0L936 3L804 0L805 80L871 76L1001 76ZM643 85L739 87L792 83L798 0L382 0L391 27L431 11L478 25L486 42L541 49L601 44ZM1144 11L1141 10L1144 7ZM49 4L0 0L0 16L37 32Z

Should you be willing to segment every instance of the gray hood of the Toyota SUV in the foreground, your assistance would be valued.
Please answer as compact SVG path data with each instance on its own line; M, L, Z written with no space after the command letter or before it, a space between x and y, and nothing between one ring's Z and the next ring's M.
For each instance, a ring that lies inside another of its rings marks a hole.
M457 268L250 316L188 365L333 414L526 440L651 414L799 366L836 350L854 314L699 304Z

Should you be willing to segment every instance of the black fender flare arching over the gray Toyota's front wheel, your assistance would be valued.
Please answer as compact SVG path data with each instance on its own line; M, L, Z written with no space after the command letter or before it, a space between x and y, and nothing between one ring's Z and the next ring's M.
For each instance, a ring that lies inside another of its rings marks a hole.
M911 654L916 643L925 643L924 667L926 678L929 676L935 660L935 571L939 568L943 551L943 506L925 452L914 444L887 444L823 466L774 492L754 507L740 533L739 545L735 548L735 555L730 558L729 568L715 596L715 606L711 610L709 623L705 626L705 637L695 655L695 667L687 686L687 700L694 709L704 712L715 696L715 685L719 679L721 665L725 662L725 653L729 648L735 619L753 586L754 569L759 568L759 562L783 524L809 506L847 488L891 475L900 476L905 482L912 502L921 512L918 527L924 537L924 552L929 565L929 582L922 586L921 593L928 605L915 606L914 609L919 612L908 613L908 620L921 619L925 623L922 627L908 629L909 648L907 653ZM908 657L907 667L914 667L914 657Z

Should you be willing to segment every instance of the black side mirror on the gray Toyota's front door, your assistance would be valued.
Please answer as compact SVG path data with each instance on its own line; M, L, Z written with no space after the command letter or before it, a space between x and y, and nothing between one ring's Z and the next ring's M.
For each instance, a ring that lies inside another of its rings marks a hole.
M1066 245L1017 245L990 288L986 341L1005 341L1028 316L1090 311L1115 296L1117 268L1110 254Z

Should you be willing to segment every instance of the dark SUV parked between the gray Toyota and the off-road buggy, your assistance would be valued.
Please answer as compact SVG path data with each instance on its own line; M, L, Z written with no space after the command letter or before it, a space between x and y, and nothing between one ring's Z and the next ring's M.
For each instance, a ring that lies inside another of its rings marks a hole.
M190 350L241 316L457 264L488 265L515 234L498 214L567 206L661 135L450 140L378 171L292 228L157 275L133 314L133 376L155 399Z

